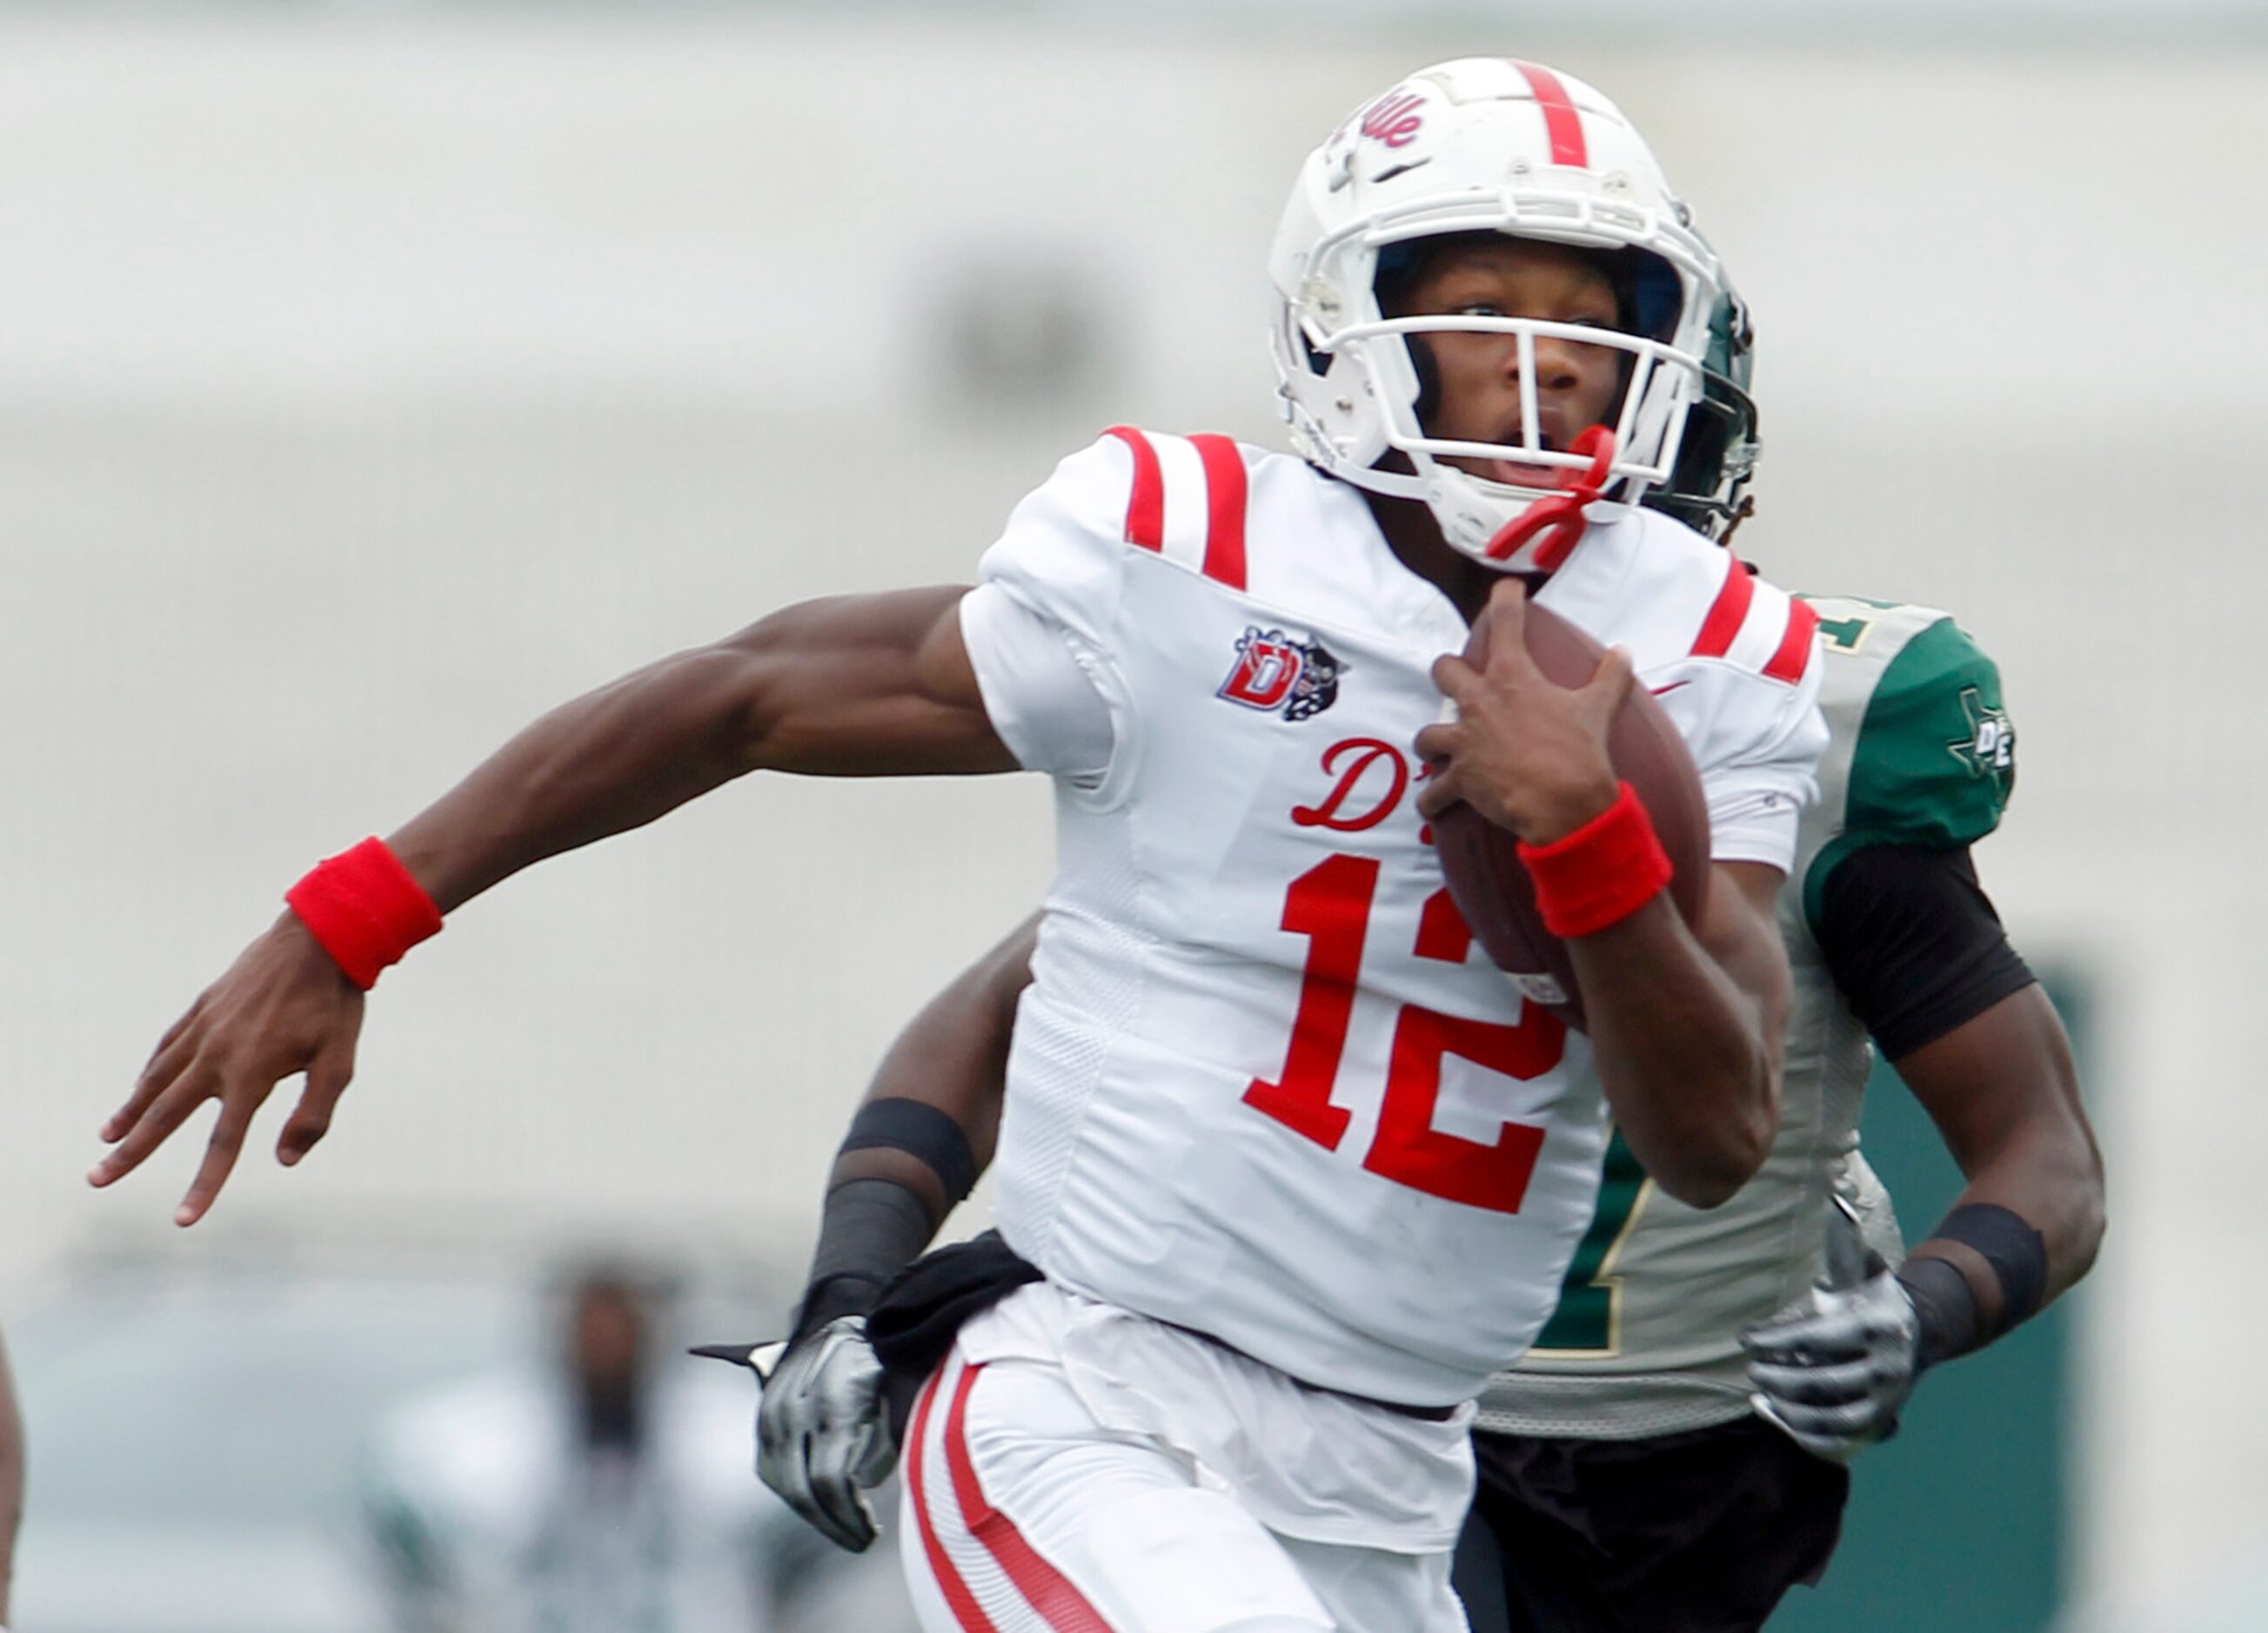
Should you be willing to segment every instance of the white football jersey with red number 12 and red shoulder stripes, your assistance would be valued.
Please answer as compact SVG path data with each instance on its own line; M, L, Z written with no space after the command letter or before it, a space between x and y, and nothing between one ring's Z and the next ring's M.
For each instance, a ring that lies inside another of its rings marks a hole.
M1785 869L1823 744L1812 615L1667 517L1594 517L1540 603L1631 649L1719 860ZM1472 1397L1551 1313L1606 1114L1588 1041L1474 948L1415 810L1463 617L1354 488L1118 429L1016 508L962 626L1002 739L1057 773L1000 1232L1295 1379ZM1070 662L1027 662L1034 628ZM1043 726L1066 685L1109 714L1091 762Z

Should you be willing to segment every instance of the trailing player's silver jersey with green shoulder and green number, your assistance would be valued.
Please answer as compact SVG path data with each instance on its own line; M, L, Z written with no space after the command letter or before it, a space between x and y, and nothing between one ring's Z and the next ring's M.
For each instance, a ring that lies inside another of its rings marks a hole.
M1889 1195L1857 1152L1873 1046L1814 932L1828 875L1853 851L1989 835L2016 778L2016 739L1994 662L1948 615L1805 599L1819 612L1830 746L1780 891L1794 973L1780 1134L1740 1195L1708 1211L1662 1195L1617 1134L1558 1311L1520 1368L1490 1379L1481 1431L1637 1440L1742 1418L1740 1334L1819 1277L1830 1186L1860 1204L1887 1259L1901 1254Z

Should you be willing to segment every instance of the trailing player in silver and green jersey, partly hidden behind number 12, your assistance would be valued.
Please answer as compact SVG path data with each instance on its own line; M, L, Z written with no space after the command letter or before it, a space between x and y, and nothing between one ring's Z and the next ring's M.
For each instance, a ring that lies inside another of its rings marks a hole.
M1715 340L1708 411L1649 504L1724 540L1758 449L1737 302ZM1969 857L2016 773L1998 671L1944 612L1812 608L1833 746L1780 898L1796 980L1780 1134L1710 1211L1610 1148L1558 1313L1481 1397L1458 1558L1476 1633L1762 1626L1823 1572L1844 1465L1894 1429L1919 1374L2071 1286L2102 1232L2068 1041ZM846 1547L873 1538L860 1486L889 1461L860 1322L989 1159L1034 928L959 975L885 1059L764 1388L764 1477ZM1857 1152L1876 1050L1969 1179L1896 1270L1898 1225Z

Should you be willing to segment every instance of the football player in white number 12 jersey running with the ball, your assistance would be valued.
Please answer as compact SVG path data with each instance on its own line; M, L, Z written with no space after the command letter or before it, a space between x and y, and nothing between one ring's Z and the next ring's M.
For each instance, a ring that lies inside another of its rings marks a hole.
M531 862L753 769L1046 771L998 1245L903 1297L889 1347L923 1622L1463 1628L1470 1402L1549 1318L1610 1120L1696 1207L1776 1123L1817 619L1631 504L1701 397L1719 274L1683 218L1590 86L1402 82L1277 238L1300 456L1120 426L975 590L789 608L553 710L288 891L93 1179L220 1100L195 1220L295 1073L302 1157L376 973ZM1522 576L1613 649L1590 685L1526 658ZM1449 653L1483 606L1476 671ZM1694 925L1606 760L1640 680L1710 807ZM1429 830L1458 798L1529 846L1588 1037L1474 955Z

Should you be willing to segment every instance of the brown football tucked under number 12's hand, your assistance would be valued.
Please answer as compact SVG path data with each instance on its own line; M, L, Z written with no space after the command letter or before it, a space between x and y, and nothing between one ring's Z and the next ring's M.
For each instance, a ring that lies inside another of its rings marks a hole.
M1606 655L1599 642L1533 601L1526 608L1526 640L1535 667L1563 687L1581 687ZM1474 667L1488 662L1486 610L1465 642L1465 662ZM1644 685L1631 687L1628 701L1615 714L1606 753L1615 776L1637 789L1647 814L1653 816L1653 832L1660 835L1662 851L1676 869L1669 880L1672 900L1685 914L1685 923L1699 923L1708 891L1708 801L1685 739ZM1535 907L1535 882L1520 860L1520 841L1470 805L1452 805L1433 821L1433 846L1449 878L1449 896L1488 957L1513 978L1529 1002L1542 1005L1579 1032L1585 1030L1574 959L1567 955L1567 944L1545 930Z

